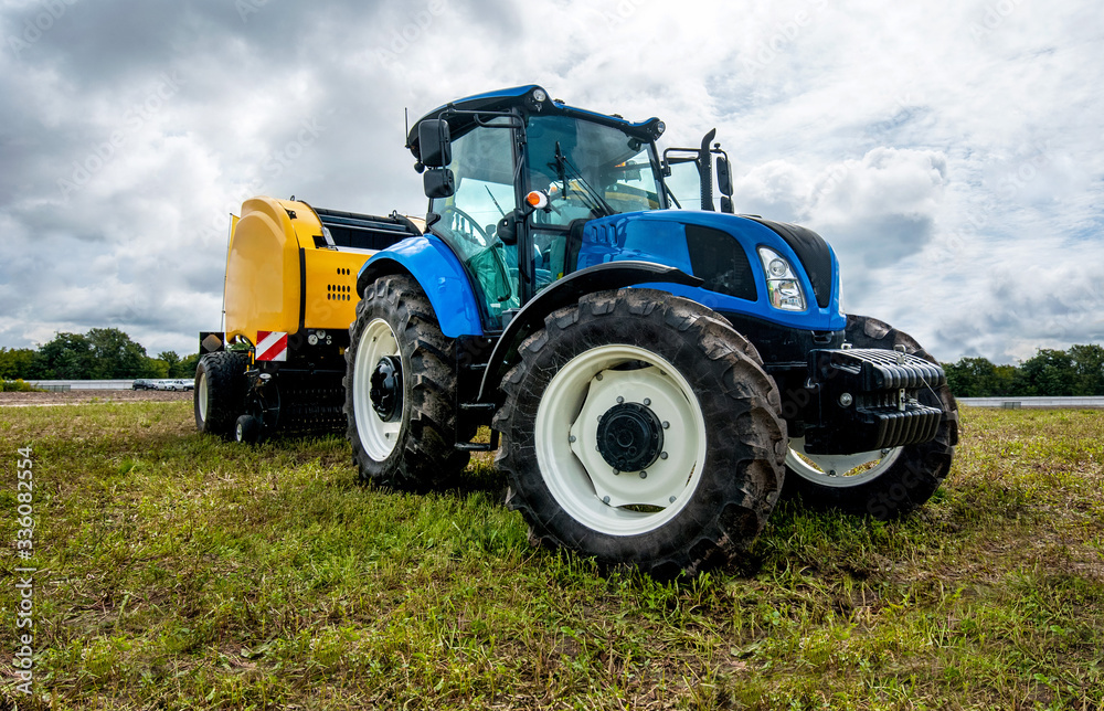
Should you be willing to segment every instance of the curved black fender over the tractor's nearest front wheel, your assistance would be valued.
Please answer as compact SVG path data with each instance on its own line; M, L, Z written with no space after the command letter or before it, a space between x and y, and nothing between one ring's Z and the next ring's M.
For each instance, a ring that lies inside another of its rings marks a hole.
M608 262L580 269L553 282L526 304L502 331L479 386L479 402L485 402L488 386L498 386L506 369L517 358L521 341L544 325L545 316L558 308L575 304L587 294L648 283L701 286L702 280L676 267L652 262Z

